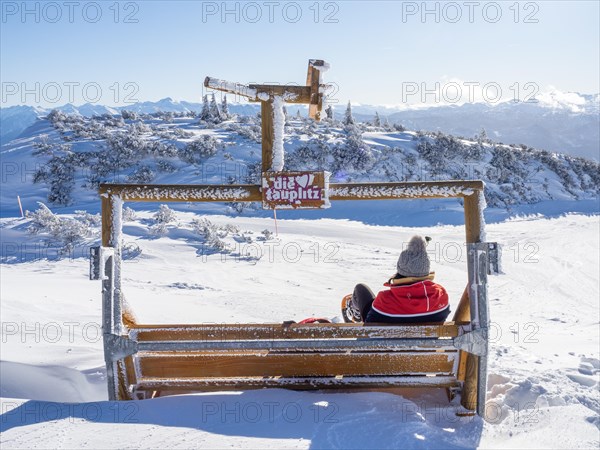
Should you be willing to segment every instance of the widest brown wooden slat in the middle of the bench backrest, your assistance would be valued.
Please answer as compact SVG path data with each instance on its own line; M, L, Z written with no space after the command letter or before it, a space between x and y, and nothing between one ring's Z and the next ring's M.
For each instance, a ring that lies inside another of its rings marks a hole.
M142 377L451 374L456 352L139 355Z

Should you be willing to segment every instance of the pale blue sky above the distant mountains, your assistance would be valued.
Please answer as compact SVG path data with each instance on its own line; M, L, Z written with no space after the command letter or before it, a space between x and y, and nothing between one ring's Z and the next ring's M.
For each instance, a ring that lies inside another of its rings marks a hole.
M3 107L198 101L206 75L303 83L309 58L331 63L343 103L600 91L597 1L1 4Z

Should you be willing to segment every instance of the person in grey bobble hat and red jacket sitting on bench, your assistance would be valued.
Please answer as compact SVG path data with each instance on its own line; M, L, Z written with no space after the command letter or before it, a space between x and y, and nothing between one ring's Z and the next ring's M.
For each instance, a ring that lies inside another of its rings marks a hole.
M432 280L426 246L431 238L413 236L398 258L397 273L375 296L365 284L357 284L351 300L355 315L366 322L444 322L450 314L446 290ZM357 320L360 321L360 320Z

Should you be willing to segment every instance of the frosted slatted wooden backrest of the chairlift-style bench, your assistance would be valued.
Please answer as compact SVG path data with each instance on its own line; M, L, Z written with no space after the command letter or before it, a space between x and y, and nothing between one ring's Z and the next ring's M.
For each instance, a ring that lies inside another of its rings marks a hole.
M135 325L125 398L265 387L464 387L454 338L468 323Z

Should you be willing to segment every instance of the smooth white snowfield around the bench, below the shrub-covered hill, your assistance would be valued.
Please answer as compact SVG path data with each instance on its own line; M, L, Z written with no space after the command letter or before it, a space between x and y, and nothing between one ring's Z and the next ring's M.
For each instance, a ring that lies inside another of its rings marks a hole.
M415 233L456 307L461 226L210 216L239 231L214 253L178 212L124 223L127 300L140 322L281 322L335 316L357 282L377 289ZM402 222L406 223L406 222ZM100 284L85 247L55 260L27 219L1 219L2 448L598 448L600 222L597 215L488 225L503 245L489 284L488 421L458 418L437 390L260 390L106 401ZM251 241L251 242L249 242ZM141 252L140 252L141 250ZM260 256L260 257L259 257Z

